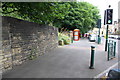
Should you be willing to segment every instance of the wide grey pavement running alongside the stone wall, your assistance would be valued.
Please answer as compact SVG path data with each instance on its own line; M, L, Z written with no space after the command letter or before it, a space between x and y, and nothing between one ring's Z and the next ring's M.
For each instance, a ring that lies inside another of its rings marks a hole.
M91 46L95 46L94 69L89 69ZM102 44L81 39L70 45L14 67L3 74L3 78L94 78L118 62L118 58L107 61L107 52Z

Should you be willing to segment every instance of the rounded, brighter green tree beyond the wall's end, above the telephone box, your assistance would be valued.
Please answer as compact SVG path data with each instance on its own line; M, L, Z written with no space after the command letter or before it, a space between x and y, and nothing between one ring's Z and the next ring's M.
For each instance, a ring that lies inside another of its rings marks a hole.
M56 20L55 23L69 30L78 28L82 33L93 29L99 16L97 7L87 2L69 2L69 12L64 19Z

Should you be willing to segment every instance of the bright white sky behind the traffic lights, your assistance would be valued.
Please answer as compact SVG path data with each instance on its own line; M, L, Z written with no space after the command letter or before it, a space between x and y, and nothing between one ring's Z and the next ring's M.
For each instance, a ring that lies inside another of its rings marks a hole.
M84 1L97 6L100 10L100 15L102 19L102 23L104 22L104 11L108 9L108 6L111 5L111 9L113 9L113 21L118 21L118 2L120 0L77 0Z

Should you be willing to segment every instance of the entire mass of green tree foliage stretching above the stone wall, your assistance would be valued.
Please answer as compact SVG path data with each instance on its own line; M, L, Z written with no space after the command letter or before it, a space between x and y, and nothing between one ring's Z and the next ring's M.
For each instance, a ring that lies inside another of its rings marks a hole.
M69 30L78 28L83 33L100 18L97 7L87 2L3 2L2 15Z

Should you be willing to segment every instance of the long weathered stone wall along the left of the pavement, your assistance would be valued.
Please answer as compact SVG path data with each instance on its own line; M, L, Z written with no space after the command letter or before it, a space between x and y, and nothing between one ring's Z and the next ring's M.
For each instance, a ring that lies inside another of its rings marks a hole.
M58 46L57 28L2 17L3 72Z

